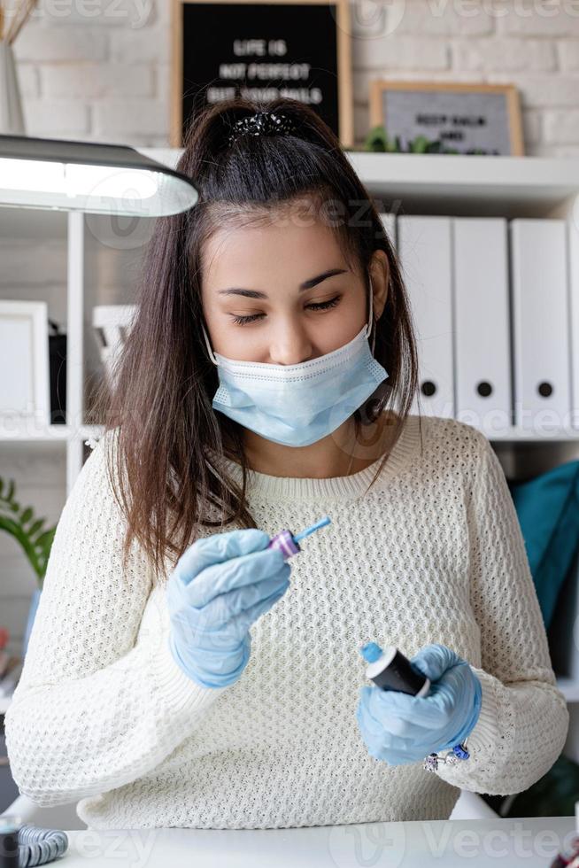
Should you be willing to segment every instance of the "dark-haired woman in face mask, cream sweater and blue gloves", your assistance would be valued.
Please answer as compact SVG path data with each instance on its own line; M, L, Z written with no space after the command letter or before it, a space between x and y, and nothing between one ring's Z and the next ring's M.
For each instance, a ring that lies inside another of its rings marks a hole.
M258 108L190 131L199 202L156 224L6 717L20 791L80 799L90 828L448 818L461 787L529 787L566 738L498 459L409 415L378 213L313 111ZM267 548L325 514L290 562ZM369 685L367 639L428 696Z

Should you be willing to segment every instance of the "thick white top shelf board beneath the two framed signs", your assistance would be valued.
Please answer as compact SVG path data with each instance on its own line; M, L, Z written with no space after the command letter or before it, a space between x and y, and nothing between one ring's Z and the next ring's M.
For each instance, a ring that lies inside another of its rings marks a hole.
M180 148L137 148L175 168ZM538 217L569 212L579 190L575 157L489 157L346 151L385 211Z

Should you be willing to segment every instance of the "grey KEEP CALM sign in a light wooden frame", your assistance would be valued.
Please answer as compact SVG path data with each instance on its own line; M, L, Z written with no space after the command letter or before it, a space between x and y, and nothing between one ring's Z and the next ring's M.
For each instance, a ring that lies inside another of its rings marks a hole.
M522 156L521 105L511 84L372 81L370 124L390 139L439 140L459 153Z

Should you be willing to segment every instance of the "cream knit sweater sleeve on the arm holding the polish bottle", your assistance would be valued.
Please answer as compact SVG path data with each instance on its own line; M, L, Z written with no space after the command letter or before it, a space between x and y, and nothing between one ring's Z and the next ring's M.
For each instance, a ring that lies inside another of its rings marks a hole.
M470 593L481 633L480 717L470 757L438 763L444 780L475 793L528 789L565 744L569 714L552 663L521 525L489 440L475 432L479 461L467 505ZM445 752L444 752L445 753Z

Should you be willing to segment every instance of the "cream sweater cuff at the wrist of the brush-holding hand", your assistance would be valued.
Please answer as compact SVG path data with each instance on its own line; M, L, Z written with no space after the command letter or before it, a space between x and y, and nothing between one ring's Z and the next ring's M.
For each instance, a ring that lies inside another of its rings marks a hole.
M228 686L204 687L185 675L171 654L167 634L163 634L151 665L158 692L174 714L197 717L228 689Z

